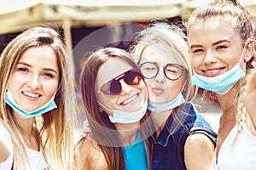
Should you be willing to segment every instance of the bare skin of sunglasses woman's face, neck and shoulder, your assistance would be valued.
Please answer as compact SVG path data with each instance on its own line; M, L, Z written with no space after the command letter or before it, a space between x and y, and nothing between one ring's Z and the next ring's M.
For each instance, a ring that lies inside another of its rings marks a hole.
M114 69L113 69L114 68ZM102 105L108 108L105 110L109 116L113 116L113 110L120 111L138 111L145 102L146 99L146 86L143 80L138 86L129 86L124 80L120 80L122 85L122 91L119 95L113 95L108 97L106 94L101 92L102 85L115 77L119 77L126 71L131 70L131 65L127 64L121 59L109 59L108 62L104 63L96 77L96 97ZM137 128L140 122L134 123L114 123L114 126L119 130L122 139L125 139L123 145L131 145L137 138ZM90 136L88 137L90 138ZM81 144L80 159L83 160L83 169L91 170L104 170L108 169L105 157L102 151L99 149L97 144L90 139L85 139Z

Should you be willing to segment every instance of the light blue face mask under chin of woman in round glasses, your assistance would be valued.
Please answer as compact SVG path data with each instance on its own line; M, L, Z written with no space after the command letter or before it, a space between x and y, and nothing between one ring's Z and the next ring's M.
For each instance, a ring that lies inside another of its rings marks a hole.
M165 104L153 104L153 103L148 103L148 110L153 111L155 113L160 113L163 111L169 111L173 108L176 108L179 105L182 105L185 103L185 99L183 98L183 94L180 93L177 95L175 99L173 99L171 102L165 103Z

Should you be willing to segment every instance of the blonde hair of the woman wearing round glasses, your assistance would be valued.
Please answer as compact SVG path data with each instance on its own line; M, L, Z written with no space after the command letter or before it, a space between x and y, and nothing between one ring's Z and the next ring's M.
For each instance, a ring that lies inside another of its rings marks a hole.
M185 89L186 94L183 94L183 96L186 101L190 101L194 99L195 94L197 93L197 88L191 83L192 68L186 39L187 37L183 33L183 30L179 27L156 23L135 34L133 40L135 43L131 46L130 50L132 57L137 62L137 65L139 65L143 51L150 45L160 43L167 48L170 48L177 60L177 64L182 65L187 71L187 82L186 86L183 88Z

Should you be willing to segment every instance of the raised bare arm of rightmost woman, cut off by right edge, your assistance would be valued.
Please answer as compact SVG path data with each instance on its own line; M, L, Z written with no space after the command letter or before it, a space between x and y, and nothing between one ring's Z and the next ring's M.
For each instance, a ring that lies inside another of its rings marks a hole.
M247 122L251 122L251 126L248 126L248 129L254 136L256 136L256 108L255 108L255 100L256 100L256 73L251 77L251 82L247 87L247 94L245 96L244 105L246 106L248 116L251 120Z

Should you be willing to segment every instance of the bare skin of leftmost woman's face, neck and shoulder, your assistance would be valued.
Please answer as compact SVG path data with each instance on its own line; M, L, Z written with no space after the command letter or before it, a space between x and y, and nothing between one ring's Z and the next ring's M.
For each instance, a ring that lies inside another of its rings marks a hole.
M59 75L56 55L52 48L28 48L15 65L9 77L8 88L22 109L35 111L54 96L59 85ZM35 118L23 119L16 113L14 116L26 146L39 150L39 133L34 127ZM5 140L0 138L0 161L9 156L10 146Z

